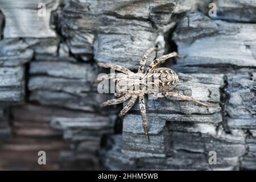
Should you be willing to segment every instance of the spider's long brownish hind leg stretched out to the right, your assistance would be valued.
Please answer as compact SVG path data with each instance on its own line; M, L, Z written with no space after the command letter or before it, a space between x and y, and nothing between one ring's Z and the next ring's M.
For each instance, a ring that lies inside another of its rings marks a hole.
M192 97L188 97L188 96L183 96L174 92L163 92L163 93L152 93L150 94L153 97L176 97L176 98L181 98L182 100L186 100L186 101L192 101L195 102L197 104L203 105L203 106L207 106L207 107L217 107L218 105L210 105L210 104L205 104L204 102L200 102L195 100L195 98Z

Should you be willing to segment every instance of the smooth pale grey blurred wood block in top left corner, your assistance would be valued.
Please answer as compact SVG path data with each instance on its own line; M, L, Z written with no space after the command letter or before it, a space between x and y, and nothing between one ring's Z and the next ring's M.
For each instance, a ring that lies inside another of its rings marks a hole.
M39 3L45 3L46 16L38 16ZM5 15L5 38L48 38L56 37L56 32L50 27L51 12L56 10L59 0L1 0L1 10Z

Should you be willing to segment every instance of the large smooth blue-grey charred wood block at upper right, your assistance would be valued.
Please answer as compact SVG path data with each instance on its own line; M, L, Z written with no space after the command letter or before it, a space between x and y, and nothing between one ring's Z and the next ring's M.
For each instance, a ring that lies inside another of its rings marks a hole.
M175 69L180 72L229 73L255 68L255 24L211 20L192 12L183 18L174 32L180 54ZM207 69L208 68L208 69Z

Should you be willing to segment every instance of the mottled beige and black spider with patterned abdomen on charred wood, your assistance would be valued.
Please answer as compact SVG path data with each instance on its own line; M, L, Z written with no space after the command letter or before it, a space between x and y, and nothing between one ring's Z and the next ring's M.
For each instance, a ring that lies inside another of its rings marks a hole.
M103 68L111 68L118 73L109 73L108 75L99 76L96 81L102 80L114 80L116 82L116 93L115 96L118 97L114 100L108 100L103 102L100 106L105 107L109 105L120 104L125 102L130 98L128 104L123 107L119 113L119 117L123 117L130 109L133 107L137 98L139 98L139 109L141 110L143 119L144 134L146 136L146 141L148 140L148 129L147 129L147 119L146 119L146 106L144 95L148 94L153 97L176 97L182 100L196 102L197 104L203 106L217 106L208 105L203 102L197 101L192 97L183 96L174 92L168 92L172 90L177 85L179 77L170 68L156 68L156 65L162 63L171 57L182 57L176 52L172 52L168 55L163 55L158 57L148 66L146 72L144 72L144 66L147 61L148 55L151 52L158 51L156 47L151 47L142 56L141 63L137 73L131 72L129 69L108 63L98 63L98 66ZM121 73L119 73L121 72Z

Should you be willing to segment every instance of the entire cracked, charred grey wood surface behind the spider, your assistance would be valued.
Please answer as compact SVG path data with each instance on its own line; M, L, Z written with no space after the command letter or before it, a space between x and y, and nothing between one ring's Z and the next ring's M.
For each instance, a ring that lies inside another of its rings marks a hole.
M215 2L210 18L199 0L0 0L0 169L256 169L256 4ZM219 106L147 100L147 144L138 106L120 122L93 80L97 62L136 71L152 46L147 64L186 55L163 64L174 92Z

